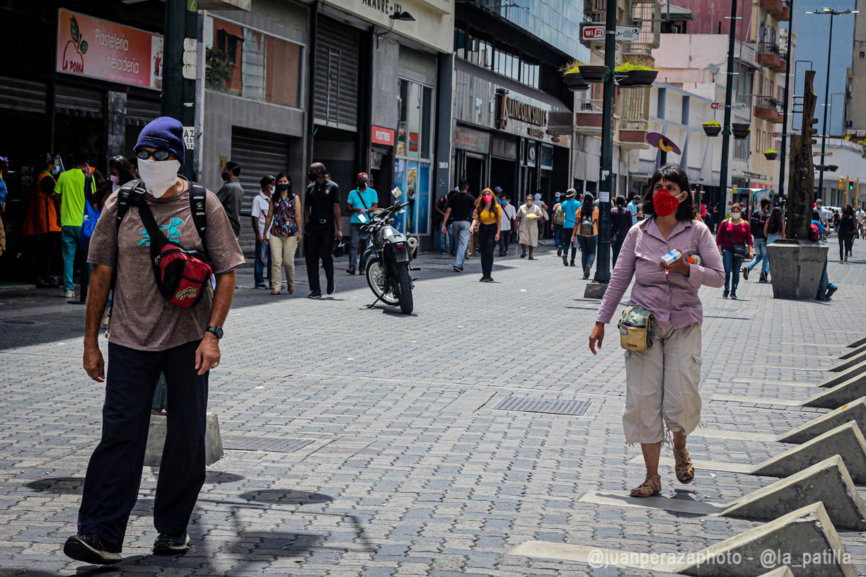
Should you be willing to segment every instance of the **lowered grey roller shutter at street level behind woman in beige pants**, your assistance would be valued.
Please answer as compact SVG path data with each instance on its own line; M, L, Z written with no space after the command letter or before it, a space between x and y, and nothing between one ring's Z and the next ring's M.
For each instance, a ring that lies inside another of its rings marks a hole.
M287 170L288 137L273 132L232 127L229 160L234 160L241 165L241 176L238 178L243 187L240 243L245 253L251 252L255 250L255 234L249 223L253 199L262 189L259 186L262 176L268 174L276 176L277 172ZM293 184L296 183L293 181ZM298 194L297 190L295 194Z

